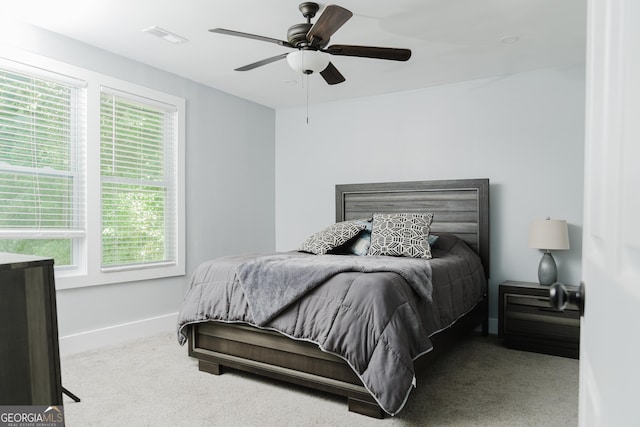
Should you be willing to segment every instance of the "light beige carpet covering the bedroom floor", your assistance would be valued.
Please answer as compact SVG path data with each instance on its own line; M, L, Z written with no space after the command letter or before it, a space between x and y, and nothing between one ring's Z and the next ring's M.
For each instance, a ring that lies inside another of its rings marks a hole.
M405 408L375 420L344 398L240 372L213 376L163 334L62 359L67 426L572 426L578 361L469 337L418 377Z

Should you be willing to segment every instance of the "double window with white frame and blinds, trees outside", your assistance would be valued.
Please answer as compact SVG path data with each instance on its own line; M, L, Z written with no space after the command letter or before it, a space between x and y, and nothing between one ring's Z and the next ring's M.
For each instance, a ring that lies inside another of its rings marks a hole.
M53 257L61 288L184 274L184 100L23 55L0 58L0 252Z

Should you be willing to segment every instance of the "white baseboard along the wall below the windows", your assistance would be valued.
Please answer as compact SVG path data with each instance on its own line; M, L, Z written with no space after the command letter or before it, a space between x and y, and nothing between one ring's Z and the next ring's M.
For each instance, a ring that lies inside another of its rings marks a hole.
M177 320L178 313L170 313L163 316L138 320L136 322L66 335L59 339L60 355L68 356L162 332L175 331Z

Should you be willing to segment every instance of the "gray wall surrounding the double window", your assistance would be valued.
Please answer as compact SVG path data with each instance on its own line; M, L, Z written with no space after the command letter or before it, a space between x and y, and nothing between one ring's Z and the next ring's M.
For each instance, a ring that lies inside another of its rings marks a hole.
M59 290L63 352L166 327L200 262L273 250L274 110L35 27L21 30L16 47L186 99L187 275Z

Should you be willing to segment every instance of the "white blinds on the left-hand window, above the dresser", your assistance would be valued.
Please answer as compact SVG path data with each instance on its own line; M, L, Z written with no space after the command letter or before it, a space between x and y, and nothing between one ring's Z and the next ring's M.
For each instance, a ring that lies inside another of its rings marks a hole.
M71 238L85 234L81 91L73 84L0 67L3 250L31 244L33 250L22 252L37 254L48 246L48 254L66 253L56 260L66 264L71 262Z

